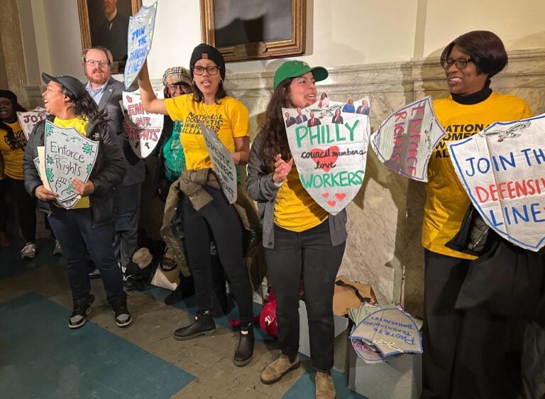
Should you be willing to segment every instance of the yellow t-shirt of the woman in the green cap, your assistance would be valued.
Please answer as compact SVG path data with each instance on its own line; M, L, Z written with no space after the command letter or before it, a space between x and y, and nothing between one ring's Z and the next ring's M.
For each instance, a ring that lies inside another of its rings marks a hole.
M275 224L299 233L318 226L327 216L326 210L304 190L294 166L276 195Z

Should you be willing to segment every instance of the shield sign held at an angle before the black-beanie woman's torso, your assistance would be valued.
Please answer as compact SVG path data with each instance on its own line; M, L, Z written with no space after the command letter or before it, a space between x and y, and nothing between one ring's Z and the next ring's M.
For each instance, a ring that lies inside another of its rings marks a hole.
M236 167L231 157L231 151L221 143L216 133L208 129L201 121L199 121L199 126L214 166L214 172L221 184L221 190L227 197L229 204L234 204L236 202Z

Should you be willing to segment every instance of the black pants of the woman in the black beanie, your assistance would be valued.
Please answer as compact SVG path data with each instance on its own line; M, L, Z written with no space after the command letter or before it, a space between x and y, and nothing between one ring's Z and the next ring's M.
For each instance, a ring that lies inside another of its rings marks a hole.
M252 288L243 257L241 219L221 190L209 186L203 188L214 200L199 211L194 209L187 196L182 199L185 244L195 283L197 308L209 310L211 307L210 230L238 305L241 322L250 324L253 316Z

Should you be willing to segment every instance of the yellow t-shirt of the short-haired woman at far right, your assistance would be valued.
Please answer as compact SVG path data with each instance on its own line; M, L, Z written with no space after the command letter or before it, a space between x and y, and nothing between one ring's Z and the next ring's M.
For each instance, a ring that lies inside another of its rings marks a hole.
M446 136L429 160L422 246L455 258L475 259L475 256L445 246L459 231L470 205L466 190L456 176L446 143L470 137L493 122L517 121L529 118L532 113L523 99L496 92L492 92L485 101L473 105L458 104L451 96L438 99L434 101L434 111L446 130Z

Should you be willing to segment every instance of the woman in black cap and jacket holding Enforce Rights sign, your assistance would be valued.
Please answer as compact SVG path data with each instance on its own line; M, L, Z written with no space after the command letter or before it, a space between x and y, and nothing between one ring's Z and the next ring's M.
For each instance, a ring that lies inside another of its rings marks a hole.
M87 251L100 270L106 300L114 310L119 327L131 324L127 310L123 275L114 256L114 187L123 180L125 158L116 139L113 122L107 111L99 111L85 87L71 76L53 77L42 74L48 84L42 97L48 120L64 129L75 129L82 136L99 141L97 159L87 182L72 179L73 190L81 199L71 208L54 203L55 192L47 190L34 159L38 146L44 145L45 121L33 129L23 159L26 190L40 200L39 207L49 215L51 228L59 240L66 258L66 270L72 289L73 312L68 327L82 327L94 301L87 270Z

